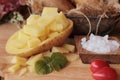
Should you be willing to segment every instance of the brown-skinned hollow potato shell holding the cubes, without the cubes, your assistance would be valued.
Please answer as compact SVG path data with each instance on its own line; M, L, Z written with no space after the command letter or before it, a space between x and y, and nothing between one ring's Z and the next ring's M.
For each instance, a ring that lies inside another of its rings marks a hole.
M73 30L73 22L71 20L69 20L69 22L70 22L69 26L65 30L60 32L57 36L47 38L46 40L41 42L38 46L36 46L34 48L23 50L22 52L14 51L13 49L11 49L10 45L9 45L11 39L9 39L6 44L6 51L12 55L29 57L29 56L38 54L40 52L47 51L47 50L51 49L53 46L62 45ZM13 45L14 45L14 43L13 43Z

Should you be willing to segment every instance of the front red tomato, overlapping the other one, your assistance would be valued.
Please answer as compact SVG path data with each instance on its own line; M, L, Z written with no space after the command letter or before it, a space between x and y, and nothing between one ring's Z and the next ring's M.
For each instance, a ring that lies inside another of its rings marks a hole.
M93 78L95 80L117 80L117 73L113 68L104 67L93 73Z

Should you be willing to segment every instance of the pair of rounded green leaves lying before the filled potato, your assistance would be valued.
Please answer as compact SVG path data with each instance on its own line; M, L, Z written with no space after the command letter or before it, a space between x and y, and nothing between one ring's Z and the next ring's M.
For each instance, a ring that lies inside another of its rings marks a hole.
M66 57L59 53L55 52L51 57L44 57L43 60L39 60L35 64L35 71L38 74L48 74L53 70L59 71L64 68L68 63Z

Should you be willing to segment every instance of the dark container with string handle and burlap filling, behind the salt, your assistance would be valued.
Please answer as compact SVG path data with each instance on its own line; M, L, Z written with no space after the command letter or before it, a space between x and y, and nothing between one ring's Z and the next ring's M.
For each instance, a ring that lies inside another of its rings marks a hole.
M67 16L74 22L72 35L110 34L120 20L119 0L73 0Z

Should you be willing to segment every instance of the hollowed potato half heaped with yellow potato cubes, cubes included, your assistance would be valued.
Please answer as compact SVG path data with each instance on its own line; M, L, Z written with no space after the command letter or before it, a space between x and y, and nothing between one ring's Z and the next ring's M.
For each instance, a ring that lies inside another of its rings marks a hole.
M8 39L6 51L23 57L47 51L53 46L62 45L72 29L73 22L62 12L58 13L57 8L45 7L41 16L30 15L23 28Z

